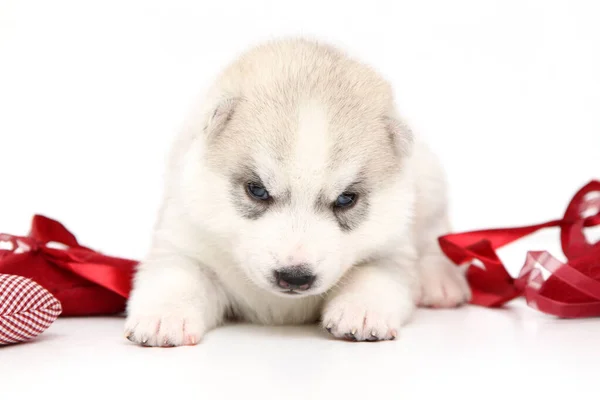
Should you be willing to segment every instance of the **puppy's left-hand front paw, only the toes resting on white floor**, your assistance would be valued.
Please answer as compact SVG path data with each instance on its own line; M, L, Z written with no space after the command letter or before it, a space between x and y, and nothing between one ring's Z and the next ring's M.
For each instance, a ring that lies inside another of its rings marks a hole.
M125 337L149 347L195 345L206 329L202 314L193 308L165 307L133 312L125 321Z

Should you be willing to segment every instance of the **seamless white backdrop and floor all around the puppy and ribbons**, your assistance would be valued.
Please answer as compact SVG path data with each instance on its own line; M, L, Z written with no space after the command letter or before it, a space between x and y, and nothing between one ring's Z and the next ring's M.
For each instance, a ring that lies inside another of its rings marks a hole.
M141 257L162 158L192 97L248 45L292 33L339 43L392 81L402 113L444 160L456 230L560 217L575 190L600 177L599 7L0 0L0 231L26 233L42 213L84 245ZM527 250L561 255L556 231L538 237L511 247L513 273ZM240 326L194 348L140 349L122 338L122 322L59 320L34 343L0 349L0 400L598 390L600 322L526 307L423 310L398 341L365 344Z

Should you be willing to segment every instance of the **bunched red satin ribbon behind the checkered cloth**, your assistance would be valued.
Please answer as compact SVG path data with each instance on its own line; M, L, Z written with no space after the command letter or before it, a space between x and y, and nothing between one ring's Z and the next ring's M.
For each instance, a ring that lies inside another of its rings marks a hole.
M61 223L33 217L28 236L0 234L0 274L30 278L60 302L63 316L124 311L137 261L115 258L81 246Z

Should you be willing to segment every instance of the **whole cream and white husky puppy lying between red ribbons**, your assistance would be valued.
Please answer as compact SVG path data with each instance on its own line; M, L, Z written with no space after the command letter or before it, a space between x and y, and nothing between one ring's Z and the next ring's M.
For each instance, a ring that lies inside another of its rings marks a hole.
M194 345L237 318L394 339L415 307L470 299L449 230L443 171L389 83L329 44L263 43L174 141L125 335Z

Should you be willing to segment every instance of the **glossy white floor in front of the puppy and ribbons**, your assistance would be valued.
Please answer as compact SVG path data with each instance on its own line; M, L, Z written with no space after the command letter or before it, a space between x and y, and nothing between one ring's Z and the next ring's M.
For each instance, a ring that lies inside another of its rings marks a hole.
M122 325L63 319L36 342L0 349L0 398L568 399L597 391L600 321L556 320L518 301L506 310L420 310L396 341L379 343L336 341L313 326L240 325L195 347L142 348L122 337Z

